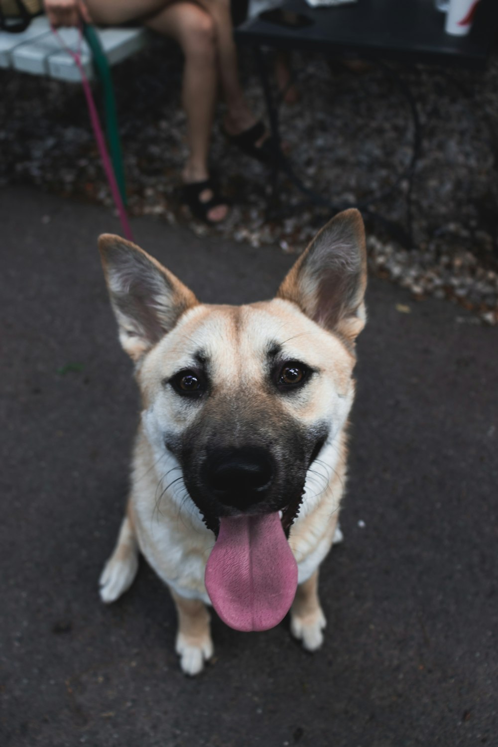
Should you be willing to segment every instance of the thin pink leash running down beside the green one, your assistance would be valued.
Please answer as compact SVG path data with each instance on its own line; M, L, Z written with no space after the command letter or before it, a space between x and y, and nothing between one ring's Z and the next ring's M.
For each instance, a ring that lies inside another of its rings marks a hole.
M52 26L52 34L54 34L55 37L57 37L57 40L59 41L60 46L62 46L63 49L65 49L66 52L72 57L72 59L75 62L75 65L78 67L78 70L80 72L81 84L83 86L85 99L87 99L87 108L88 108L88 114L90 115L90 123L92 124L93 134L95 135L96 143L99 148L100 158L102 161L102 166L104 167L105 176L107 176L108 184L111 189L111 194L114 200L114 204L116 205L119 220L122 226L122 231L125 235L125 238L127 238L128 241L133 241L133 234L131 233L130 224L128 223L128 216L126 214L125 205L123 204L122 196L121 196L121 193L119 192L119 187L116 181L116 175L114 174L113 166L111 164L111 158L109 158L108 149L105 144L105 137L102 131L102 125L100 123L99 113L97 111L96 104L93 99L92 88L90 87L90 82L88 81L87 75L84 72L83 63L81 63L81 43L83 40L83 34L81 32L81 22L78 25L78 34L79 34L78 35L78 47L75 52L73 52L72 49L69 49L69 46L67 46L63 38L60 37L60 34L58 34L55 26Z

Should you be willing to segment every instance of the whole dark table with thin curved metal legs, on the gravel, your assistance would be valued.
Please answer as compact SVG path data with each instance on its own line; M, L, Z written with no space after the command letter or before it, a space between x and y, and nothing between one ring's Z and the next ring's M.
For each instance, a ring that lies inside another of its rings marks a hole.
M422 130L417 103L408 83L400 78L396 70L389 69L386 61L484 69L498 29L497 0L481 0L470 34L465 37L454 37L444 32L445 14L435 9L434 0L358 0L338 7L320 8L310 7L305 0L284 0L281 10L298 14L299 18L305 21L305 25L270 22L261 17L265 15L263 13L247 20L235 30L237 43L251 45L255 49L267 101L271 131L276 143L273 202L278 202L278 170L282 170L315 205L321 205L334 212L347 207L358 207L376 220L381 220L402 243L411 245L411 192ZM408 99L414 122L410 162L403 173L393 175L393 185L390 188L356 205L343 205L314 193L304 185L281 152L278 109L273 102L270 81L261 54L261 47L266 46L287 50L301 49L337 58L354 55L378 61L384 66L387 75L396 81L400 92ZM370 212L370 205L382 202L385 197L397 190L405 179L408 182L407 230L391 223L377 211Z

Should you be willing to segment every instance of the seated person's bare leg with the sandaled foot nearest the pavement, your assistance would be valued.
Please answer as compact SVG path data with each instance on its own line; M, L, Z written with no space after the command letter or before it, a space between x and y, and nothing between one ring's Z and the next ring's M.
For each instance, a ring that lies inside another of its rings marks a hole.
M192 2L170 0L123 0L127 17L120 7L121 0L90 0L98 4L96 20L118 23L137 17L144 25L164 36L172 37L181 46L185 57L182 102L187 114L187 143L189 157L182 176L186 184L208 179L208 152L217 94L217 62L214 22L205 10ZM116 7L119 5L119 8ZM134 10L135 8L135 10ZM116 10L116 15L113 15ZM144 14L146 14L144 16ZM211 190L203 190L201 202L208 202ZM208 219L223 220L227 205L216 205L208 211Z

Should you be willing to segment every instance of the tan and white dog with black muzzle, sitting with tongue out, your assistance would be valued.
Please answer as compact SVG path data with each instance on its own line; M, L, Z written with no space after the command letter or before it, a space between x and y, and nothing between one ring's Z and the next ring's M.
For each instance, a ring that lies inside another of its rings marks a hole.
M276 297L246 306L199 303L118 236L102 235L99 251L142 398L102 601L131 586L140 552L175 601L187 675L213 655L210 604L236 630L267 630L290 609L291 633L317 650L318 568L339 531L366 321L361 215L330 220Z

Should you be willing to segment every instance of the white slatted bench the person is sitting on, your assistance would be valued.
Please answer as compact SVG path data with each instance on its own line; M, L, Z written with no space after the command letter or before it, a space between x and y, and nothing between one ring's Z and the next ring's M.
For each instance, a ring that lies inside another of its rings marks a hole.
M69 49L78 49L77 29L60 28L58 34ZM143 28L104 28L98 29L97 34L110 65L125 60L146 43L146 31ZM81 62L87 78L93 78L92 55L84 39L81 40ZM1 67L10 67L32 75L48 75L61 81L81 82L75 62L52 34L46 16L37 16L22 34L0 31Z

